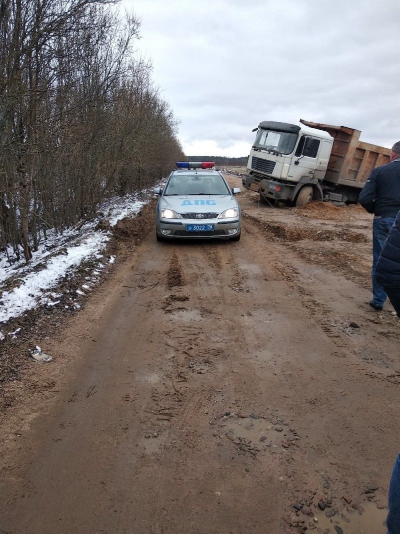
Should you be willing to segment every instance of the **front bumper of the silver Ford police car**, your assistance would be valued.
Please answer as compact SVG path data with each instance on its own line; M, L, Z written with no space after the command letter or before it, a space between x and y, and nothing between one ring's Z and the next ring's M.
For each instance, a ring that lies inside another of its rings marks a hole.
M214 230L187 231L186 226L194 223L198 225L213 224ZM161 220L156 224L156 231L158 235L165 239L229 239L240 233L241 221L238 218L228 221L213 219L211 221L202 221L201 223L189 219L183 219L179 222Z

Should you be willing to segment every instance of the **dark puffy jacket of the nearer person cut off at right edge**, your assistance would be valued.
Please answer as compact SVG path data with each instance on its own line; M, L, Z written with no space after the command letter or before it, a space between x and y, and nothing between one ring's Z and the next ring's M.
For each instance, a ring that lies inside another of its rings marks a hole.
M383 245L376 278L382 287L400 288L400 213Z

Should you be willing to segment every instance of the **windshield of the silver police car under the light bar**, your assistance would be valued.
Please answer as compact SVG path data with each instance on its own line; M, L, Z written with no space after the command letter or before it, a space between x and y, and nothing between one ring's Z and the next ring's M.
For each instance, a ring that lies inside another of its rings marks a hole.
M171 176L164 195L227 195L228 186L218 174Z

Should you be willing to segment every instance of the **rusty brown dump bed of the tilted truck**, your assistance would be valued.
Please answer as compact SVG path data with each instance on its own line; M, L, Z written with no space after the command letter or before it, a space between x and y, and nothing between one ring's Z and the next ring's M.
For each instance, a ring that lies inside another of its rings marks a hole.
M324 178L326 182L361 189L375 167L389 162L390 148L360 141L360 130L303 119L300 122L310 128L324 130L333 137L331 157Z

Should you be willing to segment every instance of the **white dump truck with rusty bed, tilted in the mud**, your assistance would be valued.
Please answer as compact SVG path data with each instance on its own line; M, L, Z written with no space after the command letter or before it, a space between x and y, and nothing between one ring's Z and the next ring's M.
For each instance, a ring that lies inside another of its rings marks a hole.
M360 141L361 131L346 126L262 121L253 131L242 182L263 202L356 203L371 171L390 158L389 148Z

